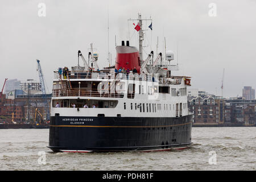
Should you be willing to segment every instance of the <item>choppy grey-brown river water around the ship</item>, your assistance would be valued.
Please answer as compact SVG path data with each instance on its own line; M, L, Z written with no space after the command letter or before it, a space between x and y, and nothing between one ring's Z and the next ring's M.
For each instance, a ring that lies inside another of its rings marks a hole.
M191 148L165 152L54 153L46 147L48 133L0 130L0 170L256 169L256 127L193 127Z

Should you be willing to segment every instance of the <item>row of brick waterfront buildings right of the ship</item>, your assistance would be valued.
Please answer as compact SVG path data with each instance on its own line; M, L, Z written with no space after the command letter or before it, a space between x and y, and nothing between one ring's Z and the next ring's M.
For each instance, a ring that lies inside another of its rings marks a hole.
M188 98L193 113L193 126L253 126L256 125L256 100L222 99L199 94Z

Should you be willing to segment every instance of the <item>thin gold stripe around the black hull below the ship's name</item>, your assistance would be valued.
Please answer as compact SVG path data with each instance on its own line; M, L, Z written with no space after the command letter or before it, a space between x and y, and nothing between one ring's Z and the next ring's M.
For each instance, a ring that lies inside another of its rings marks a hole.
M178 125L163 125L163 126L90 126L90 125L50 125L50 127L172 127L172 126L182 126L188 125L189 123L183 123Z

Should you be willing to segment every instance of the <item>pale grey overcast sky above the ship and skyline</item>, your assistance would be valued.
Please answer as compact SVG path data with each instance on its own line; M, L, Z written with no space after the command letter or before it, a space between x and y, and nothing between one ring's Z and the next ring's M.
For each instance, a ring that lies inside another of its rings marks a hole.
M46 16L38 15L39 3L46 5ZM210 3L216 5L216 16L210 16ZM53 71L75 66L77 51L86 57L90 43L97 48L98 64L108 65L108 9L113 62L115 35L117 45L130 40L130 46L138 47L137 22L127 19L141 13L152 18L152 31L147 28L151 21L143 26L148 29L145 51L151 47L156 52L157 37L163 51L166 37L166 49L179 57L180 71L174 74L191 76L191 88L220 95L224 68L225 97L241 96L243 86L256 88L255 0L1 0L0 88L5 78L39 80L39 59L51 92Z

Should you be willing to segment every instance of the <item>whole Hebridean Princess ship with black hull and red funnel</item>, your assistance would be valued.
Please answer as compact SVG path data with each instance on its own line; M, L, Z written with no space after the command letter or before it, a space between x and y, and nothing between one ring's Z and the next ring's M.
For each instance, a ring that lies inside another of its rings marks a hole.
M141 15L138 22L142 26ZM113 67L100 69L90 45L78 64L55 71L49 148L54 152L166 151L191 146L191 77L174 76L174 53L139 49L122 41ZM82 59L84 65L79 64ZM64 72L64 73L63 73Z

